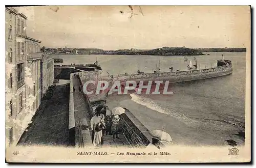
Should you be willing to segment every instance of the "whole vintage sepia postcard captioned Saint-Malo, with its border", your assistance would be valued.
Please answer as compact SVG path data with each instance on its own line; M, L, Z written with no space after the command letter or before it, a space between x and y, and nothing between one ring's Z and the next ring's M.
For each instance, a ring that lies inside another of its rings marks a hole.
M250 10L6 6L6 161L250 162Z

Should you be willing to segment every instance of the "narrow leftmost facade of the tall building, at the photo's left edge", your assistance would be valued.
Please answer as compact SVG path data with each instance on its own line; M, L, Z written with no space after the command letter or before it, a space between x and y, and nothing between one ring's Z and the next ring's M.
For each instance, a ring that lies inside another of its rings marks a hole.
M16 118L16 17L17 11L13 8L5 10L5 49L6 49L6 73L5 73L5 94L6 94L6 144L11 146L15 139L15 128L11 122Z

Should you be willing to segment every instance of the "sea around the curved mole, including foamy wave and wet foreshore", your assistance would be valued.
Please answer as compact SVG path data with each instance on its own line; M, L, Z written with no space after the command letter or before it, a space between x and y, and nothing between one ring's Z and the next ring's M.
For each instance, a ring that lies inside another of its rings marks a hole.
M231 75L170 84L173 95L110 96L109 106L122 106L148 129L164 129L175 144L181 145L244 145L245 139L245 52L207 52L197 56L158 55L53 55L63 64L92 64L96 60L103 70L116 75L152 73L156 68L168 72L187 70L188 62L198 69L217 66L217 60L231 60ZM207 55L208 54L208 55ZM184 58L188 61L185 61Z

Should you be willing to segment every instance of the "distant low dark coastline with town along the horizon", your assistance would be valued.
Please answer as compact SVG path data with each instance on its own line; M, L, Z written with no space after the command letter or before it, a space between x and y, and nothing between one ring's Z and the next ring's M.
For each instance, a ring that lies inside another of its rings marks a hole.
M103 50L99 48L45 48L46 53L51 55L62 54L105 54L105 55L204 55L203 52L246 52L246 48L187 48L162 47L156 49L118 49Z

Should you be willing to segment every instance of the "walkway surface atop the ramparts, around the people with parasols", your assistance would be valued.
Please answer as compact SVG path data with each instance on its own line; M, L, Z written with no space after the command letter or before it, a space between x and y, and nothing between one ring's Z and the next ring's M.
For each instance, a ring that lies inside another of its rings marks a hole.
M82 91L79 92L80 82L79 79L73 77L73 86L75 87L74 94L74 111L75 111L75 122L79 121L79 119L87 120L87 125L89 127L90 131L90 138L92 137L92 130L90 128L90 116L89 111L86 107L85 99L83 96ZM82 87L81 87L82 88ZM86 137L88 138L88 137ZM125 148L131 148L131 145L127 142L127 139L124 137L123 133L119 133L119 139L115 138L113 139L113 135L103 135L103 145L102 148L117 148L117 147L125 147ZM86 146L86 145L85 145Z

